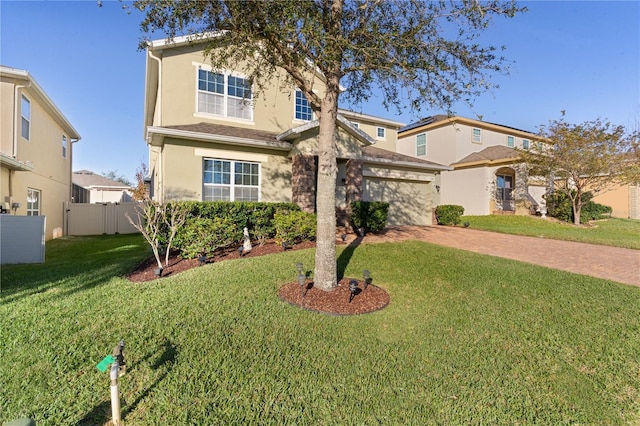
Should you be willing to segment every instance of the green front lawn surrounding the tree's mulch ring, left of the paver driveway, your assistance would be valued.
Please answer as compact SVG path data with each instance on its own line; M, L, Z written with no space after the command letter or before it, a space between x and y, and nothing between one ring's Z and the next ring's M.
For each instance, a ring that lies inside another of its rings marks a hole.
M120 339L127 425L638 424L640 288L421 242L340 251L391 295L340 317L284 303L313 250L122 276L139 236L2 267L0 424L104 424Z

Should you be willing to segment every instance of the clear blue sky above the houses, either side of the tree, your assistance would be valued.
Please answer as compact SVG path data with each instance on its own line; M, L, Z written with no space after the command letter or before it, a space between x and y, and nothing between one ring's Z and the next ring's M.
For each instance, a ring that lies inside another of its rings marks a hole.
M134 180L147 161L141 15L103 0L0 0L0 63L28 70L82 136L74 170L115 170ZM511 72L457 114L529 131L560 117L640 121L640 1L528 1L529 12L494 22L483 40L502 46ZM363 113L404 123L438 110Z

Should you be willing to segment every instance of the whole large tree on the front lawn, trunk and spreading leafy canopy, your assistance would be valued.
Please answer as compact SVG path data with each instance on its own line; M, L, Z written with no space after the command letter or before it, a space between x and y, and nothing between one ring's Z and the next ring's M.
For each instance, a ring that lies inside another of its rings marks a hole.
M191 35L212 67L243 72L256 93L286 77L319 120L314 285L337 286L336 118L339 98L357 105L379 90L389 108L450 111L504 72L500 48L479 36L515 1L137 0L145 34ZM142 46L146 40L142 41ZM284 75L283 75L284 71ZM324 90L314 85L322 80ZM345 90L343 90L345 89Z

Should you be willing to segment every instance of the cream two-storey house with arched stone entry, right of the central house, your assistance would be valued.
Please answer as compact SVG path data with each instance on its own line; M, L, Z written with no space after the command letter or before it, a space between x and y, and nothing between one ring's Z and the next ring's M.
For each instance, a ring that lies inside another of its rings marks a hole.
M468 215L529 214L546 184L529 178L516 149L541 143L533 133L459 116L436 115L398 132L399 153L446 164L437 204L457 204Z

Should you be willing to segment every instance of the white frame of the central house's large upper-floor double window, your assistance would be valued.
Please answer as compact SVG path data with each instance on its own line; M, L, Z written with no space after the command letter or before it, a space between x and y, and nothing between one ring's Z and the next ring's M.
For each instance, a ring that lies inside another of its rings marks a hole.
M206 72L206 73L211 73L211 74L217 74L217 75L221 75L222 76L222 93L218 93L218 92L212 92L209 90L201 90L200 89L200 71ZM216 117L216 118L225 118L225 119L229 119L229 120L239 120L239 121L243 121L243 122L253 122L253 95L254 95L254 91L253 91L253 87L249 87L249 95L250 97L238 97L235 95L230 95L229 94L229 79L230 78L240 78L245 80L246 82L248 82L248 79L246 76L242 75L242 74L238 74L238 73L230 73L230 72L223 72L223 71L217 71L217 70L213 70L210 67L205 67L205 66L198 66L196 67L196 75L195 75L195 79L196 79L196 106L195 106L195 111L197 115L203 115L206 117ZM215 96L217 98L220 98L222 100L222 112L220 114L216 113L216 112L209 112L209 111L201 111L200 110L200 96L201 95L209 95L209 96ZM238 117L235 115L229 115L229 111L232 109L231 108L231 102L230 101L240 101L240 103L242 104L241 106L241 110L242 111L247 111L246 116L243 117Z

